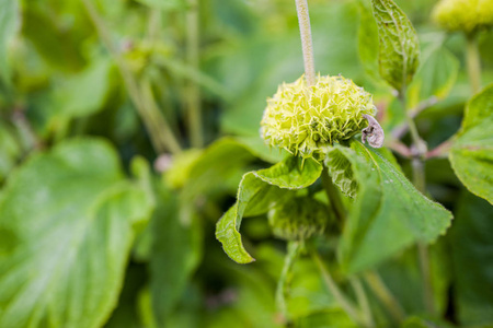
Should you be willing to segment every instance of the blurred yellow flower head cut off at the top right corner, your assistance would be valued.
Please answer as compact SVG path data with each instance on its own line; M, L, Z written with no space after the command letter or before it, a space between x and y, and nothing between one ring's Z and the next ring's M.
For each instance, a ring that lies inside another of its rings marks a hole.
M493 0L442 0L433 10L433 19L447 31L469 34L493 26Z

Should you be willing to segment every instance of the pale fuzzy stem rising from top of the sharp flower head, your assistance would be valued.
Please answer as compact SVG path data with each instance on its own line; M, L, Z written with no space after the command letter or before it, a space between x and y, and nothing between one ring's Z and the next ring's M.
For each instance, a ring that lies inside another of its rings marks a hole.
M305 79L308 85L316 83L316 71L313 60L313 43L311 40L310 15L308 14L307 0L296 0L296 10L298 12L299 33L301 35L301 45L303 50Z

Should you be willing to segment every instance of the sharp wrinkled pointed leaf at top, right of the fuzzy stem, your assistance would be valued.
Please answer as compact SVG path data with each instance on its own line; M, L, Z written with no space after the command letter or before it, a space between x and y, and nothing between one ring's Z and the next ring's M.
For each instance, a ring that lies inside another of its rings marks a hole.
M420 60L416 31L392 0L371 0L380 38L380 75L392 87L404 92Z

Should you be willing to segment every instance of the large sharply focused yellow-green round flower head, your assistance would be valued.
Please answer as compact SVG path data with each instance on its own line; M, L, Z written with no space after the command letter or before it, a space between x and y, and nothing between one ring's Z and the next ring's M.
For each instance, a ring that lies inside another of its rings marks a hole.
M328 145L352 138L375 116L371 94L342 77L318 77L308 86L303 77L282 84L267 99L261 136L270 145L307 157L323 157Z

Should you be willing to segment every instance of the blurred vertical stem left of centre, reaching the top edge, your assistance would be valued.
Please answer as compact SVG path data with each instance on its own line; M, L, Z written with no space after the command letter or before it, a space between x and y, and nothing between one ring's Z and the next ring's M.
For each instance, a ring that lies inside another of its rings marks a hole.
M198 34L198 0L188 0L186 13L186 60L188 66L199 71L199 34ZM186 106L188 114L188 131L194 148L204 145L202 126L200 89L193 80L187 81Z

